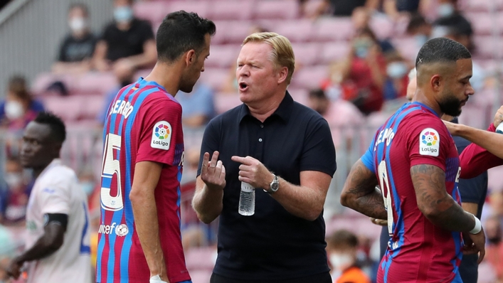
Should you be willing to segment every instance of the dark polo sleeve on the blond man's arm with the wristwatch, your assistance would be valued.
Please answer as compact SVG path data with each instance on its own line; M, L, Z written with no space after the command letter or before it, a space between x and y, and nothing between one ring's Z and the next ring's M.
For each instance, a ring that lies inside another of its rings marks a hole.
M300 157L300 171L321 171L334 176L337 170L335 146L325 119L309 122Z

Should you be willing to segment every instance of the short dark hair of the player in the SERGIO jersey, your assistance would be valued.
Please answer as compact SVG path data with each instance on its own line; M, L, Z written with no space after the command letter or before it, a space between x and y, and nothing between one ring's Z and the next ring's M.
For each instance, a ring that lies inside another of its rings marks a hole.
M173 62L186 51L194 49L201 53L204 36L213 36L216 26L213 21L201 18L196 13L176 11L168 14L157 30L157 58Z

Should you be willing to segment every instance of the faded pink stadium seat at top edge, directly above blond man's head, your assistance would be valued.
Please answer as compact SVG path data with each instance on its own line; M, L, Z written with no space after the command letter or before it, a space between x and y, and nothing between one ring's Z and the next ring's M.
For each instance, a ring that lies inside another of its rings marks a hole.
M292 19L297 16L297 0L260 0L255 5L255 18Z

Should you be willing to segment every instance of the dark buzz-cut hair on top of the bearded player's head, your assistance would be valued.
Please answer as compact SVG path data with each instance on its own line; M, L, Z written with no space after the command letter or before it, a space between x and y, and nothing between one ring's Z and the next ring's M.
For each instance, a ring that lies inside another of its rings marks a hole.
M448 63L472 58L470 51L457 41L449 38L433 38L427 41L415 58L415 68L427 63Z

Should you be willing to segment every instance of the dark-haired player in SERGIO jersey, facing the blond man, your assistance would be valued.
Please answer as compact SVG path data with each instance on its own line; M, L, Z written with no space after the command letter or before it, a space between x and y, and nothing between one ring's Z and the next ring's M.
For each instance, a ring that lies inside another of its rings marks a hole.
M181 245L184 137L174 96L192 91L215 31L197 14L168 14L152 72L123 87L109 107L96 282L191 282Z

